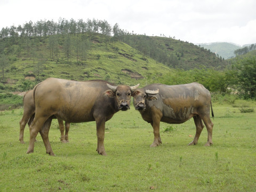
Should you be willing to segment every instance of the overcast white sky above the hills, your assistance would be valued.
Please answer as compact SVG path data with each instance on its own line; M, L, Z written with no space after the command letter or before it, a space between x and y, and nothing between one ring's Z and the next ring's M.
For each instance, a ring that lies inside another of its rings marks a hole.
M106 20L190 43L256 43L255 0L0 0L0 30L30 20Z

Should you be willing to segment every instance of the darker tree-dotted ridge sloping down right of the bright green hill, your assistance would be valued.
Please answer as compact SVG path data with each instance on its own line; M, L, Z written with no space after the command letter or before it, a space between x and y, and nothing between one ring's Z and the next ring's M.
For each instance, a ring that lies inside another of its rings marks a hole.
M155 59L170 68L190 70L214 68L224 69L227 62L215 53L192 43L167 37L126 35L124 42L140 50L143 55Z

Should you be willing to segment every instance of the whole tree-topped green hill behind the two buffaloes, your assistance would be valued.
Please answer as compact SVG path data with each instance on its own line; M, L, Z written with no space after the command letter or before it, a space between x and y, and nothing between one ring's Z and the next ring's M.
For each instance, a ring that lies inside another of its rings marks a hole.
M203 47L134 35L105 20L41 20L3 28L0 59L2 92L32 89L47 77L146 85L175 69L221 70L227 65Z

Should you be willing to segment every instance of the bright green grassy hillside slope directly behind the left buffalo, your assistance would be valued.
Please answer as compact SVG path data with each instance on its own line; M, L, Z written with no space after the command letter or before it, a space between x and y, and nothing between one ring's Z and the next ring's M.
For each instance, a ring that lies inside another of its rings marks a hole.
M32 89L35 84L47 77L76 81L104 79L116 84L146 85L154 81L154 78L173 71L162 63L143 56L138 50L123 42L106 42L106 36L102 34L72 36L73 48L70 49L67 58L65 38L58 38L60 42L58 58L49 48L50 37L31 38L31 44L39 43L31 46L29 50L22 49L19 54L17 54L19 45L12 45L14 51L9 55L12 61L9 61L9 65L4 68L4 78L1 78L2 92ZM74 47L76 38L84 38L89 42L86 58L83 61L76 54ZM3 40L5 39L1 41ZM5 51L8 49L6 48Z

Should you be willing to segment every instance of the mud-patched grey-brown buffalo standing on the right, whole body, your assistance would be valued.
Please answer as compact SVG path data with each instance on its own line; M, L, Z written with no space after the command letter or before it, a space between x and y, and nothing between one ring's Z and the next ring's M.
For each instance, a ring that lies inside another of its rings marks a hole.
M162 143L160 122L180 124L194 118L196 135L189 145L196 145L203 130L203 122L208 132L205 146L212 145L213 123L210 118L211 94L199 83L184 85L151 84L132 92L135 109L154 129L154 142L150 147ZM212 117L213 117L212 110ZM202 122L203 120L203 122Z

